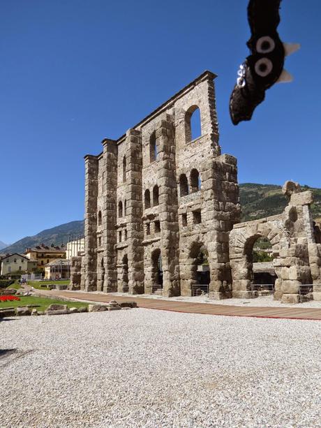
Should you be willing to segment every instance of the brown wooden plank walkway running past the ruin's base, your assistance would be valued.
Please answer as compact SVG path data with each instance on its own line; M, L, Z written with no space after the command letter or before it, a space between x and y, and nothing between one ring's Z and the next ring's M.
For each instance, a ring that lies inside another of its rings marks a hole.
M40 290L37 290L40 291ZM160 311L174 311L184 313L202 313L207 315L247 316L254 318L285 318L299 320L321 320L321 308L304 307L239 307L226 304L208 304L197 302L178 302L177 300L149 299L137 295L123 297L110 294L95 294L84 292L70 292L58 290L41 290L41 295L64 297L66 299L84 300L86 302L103 302L110 300L126 302L133 300L138 307L145 309L158 309Z

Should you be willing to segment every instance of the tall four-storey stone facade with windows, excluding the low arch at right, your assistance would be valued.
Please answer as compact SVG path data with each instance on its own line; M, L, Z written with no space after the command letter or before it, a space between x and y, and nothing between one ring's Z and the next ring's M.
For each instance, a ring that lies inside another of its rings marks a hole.
M119 140L104 140L102 154L86 156L86 290L151 293L161 259L163 295L191 295L204 247L212 296L229 297L239 188L237 161L218 145L215 77L203 73ZM191 140L196 108L202 135Z

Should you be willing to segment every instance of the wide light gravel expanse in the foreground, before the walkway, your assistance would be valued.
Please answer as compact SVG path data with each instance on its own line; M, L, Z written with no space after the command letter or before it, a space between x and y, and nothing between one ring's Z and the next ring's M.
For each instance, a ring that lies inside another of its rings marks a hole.
M320 321L130 309L0 330L1 428L321 427Z

